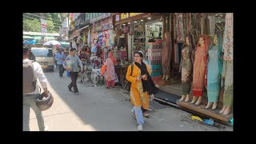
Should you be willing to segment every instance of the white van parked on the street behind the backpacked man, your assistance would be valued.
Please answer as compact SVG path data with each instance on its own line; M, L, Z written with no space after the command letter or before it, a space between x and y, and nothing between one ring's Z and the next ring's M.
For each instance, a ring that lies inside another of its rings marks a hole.
M43 70L54 71L54 54L52 48L32 47L31 52L34 54L36 62L40 64Z

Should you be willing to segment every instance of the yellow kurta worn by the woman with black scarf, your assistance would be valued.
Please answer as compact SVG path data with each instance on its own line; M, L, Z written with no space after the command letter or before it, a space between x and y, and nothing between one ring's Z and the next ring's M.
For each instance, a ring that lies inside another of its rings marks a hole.
M146 70L150 74L149 67L146 65ZM126 79L131 82L130 85L130 100L134 106L142 106L143 109L149 109L150 98L149 92L143 92L142 81L136 81L136 78L141 76L141 70L134 64L133 74L131 74L131 66L128 67Z

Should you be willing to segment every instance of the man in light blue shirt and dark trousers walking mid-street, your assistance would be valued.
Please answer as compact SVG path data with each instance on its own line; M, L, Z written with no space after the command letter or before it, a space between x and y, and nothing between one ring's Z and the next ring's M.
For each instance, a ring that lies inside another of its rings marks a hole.
M71 48L70 55L66 57L62 65L66 70L70 71L71 82L70 82L70 85L67 86L69 91L73 92L73 90L71 89L73 87L74 94L78 95L79 94L78 86L77 86L78 72L82 70L82 73L83 73L84 70L83 70L83 66L80 58L75 53L76 53L76 49Z

